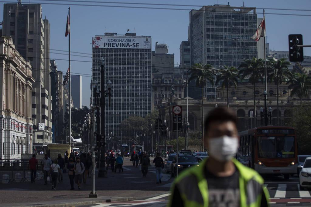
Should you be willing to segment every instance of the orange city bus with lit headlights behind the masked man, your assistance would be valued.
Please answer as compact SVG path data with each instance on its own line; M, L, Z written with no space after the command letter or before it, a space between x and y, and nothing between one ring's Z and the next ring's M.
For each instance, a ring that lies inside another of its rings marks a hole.
M260 174L297 173L297 141L292 127L266 126L239 133L237 159Z

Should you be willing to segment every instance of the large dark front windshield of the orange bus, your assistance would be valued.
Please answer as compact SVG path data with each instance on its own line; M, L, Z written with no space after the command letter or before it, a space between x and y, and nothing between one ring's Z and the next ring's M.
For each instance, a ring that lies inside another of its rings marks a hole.
M294 158L295 137L292 136L258 137L258 157Z

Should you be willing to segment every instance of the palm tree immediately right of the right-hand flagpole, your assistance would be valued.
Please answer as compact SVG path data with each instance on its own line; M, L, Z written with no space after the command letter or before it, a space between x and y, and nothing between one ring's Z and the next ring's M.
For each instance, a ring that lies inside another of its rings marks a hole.
M286 61L285 58L275 61L270 59L267 67L267 80L276 84L276 109L277 109L277 124L280 126L280 115L279 115L279 84L285 82L285 79L291 78L293 75L288 70L290 62Z

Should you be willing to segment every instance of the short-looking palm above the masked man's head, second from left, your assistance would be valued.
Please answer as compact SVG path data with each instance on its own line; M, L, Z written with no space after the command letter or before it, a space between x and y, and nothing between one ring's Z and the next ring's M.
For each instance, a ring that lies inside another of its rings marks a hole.
M221 88L225 89L227 88L227 106L229 108L229 87L234 85L234 88L238 87L238 69L234 67L228 67L225 66L225 70L220 70L220 73L217 74L216 82L219 83L220 81L223 81L221 84Z

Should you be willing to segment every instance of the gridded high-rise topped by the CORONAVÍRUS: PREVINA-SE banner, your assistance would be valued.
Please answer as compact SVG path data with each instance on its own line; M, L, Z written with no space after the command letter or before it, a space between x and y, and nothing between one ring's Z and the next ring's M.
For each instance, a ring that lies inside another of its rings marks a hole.
M119 128L120 123L130 116L145 117L151 112L151 37L135 33L93 37L92 79L97 80L99 90L101 56L105 60L105 83L112 82L111 107L106 97L106 141L111 143L113 137L114 143L124 142L128 135Z

